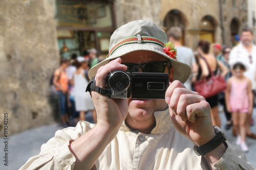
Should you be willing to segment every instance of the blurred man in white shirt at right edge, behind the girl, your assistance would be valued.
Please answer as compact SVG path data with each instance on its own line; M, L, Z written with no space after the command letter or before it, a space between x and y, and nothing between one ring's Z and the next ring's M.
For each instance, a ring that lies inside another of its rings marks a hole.
M249 28L244 28L241 34L240 43L235 46L230 53L229 64L232 66L235 62L244 62L248 69L244 73L252 82L252 91L255 92L256 81L255 81L255 71L256 71L256 45L252 44L253 31ZM256 135L250 130L250 121L252 113L248 114L247 117L247 136L256 139Z

